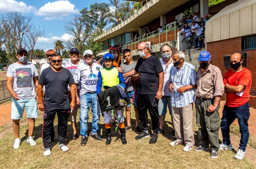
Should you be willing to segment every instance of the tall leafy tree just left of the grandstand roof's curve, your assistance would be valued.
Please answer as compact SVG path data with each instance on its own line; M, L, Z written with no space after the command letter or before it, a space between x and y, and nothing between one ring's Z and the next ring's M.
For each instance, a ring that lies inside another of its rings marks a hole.
M80 13L84 24L92 29L94 36L99 35L103 28L108 24L110 5L106 3L95 3L90 5L90 10L87 7L82 9Z

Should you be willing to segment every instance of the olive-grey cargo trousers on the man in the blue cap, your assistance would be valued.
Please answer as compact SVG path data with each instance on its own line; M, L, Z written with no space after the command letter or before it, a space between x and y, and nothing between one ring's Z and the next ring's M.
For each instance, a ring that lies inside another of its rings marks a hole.
M213 104L212 100L201 100L196 98L196 124L198 125L198 138L202 147L209 147L209 139L211 142L211 150L219 151L219 129L220 114L218 112L220 103L214 112L207 112L207 108Z

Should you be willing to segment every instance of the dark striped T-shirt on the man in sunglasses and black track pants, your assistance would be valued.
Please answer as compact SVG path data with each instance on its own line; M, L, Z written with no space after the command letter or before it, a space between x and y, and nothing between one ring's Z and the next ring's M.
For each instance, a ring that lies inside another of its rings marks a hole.
M38 83L45 86L44 104L56 109L69 109L68 85L75 83L71 72L62 68L55 72L51 67L46 68L40 75Z

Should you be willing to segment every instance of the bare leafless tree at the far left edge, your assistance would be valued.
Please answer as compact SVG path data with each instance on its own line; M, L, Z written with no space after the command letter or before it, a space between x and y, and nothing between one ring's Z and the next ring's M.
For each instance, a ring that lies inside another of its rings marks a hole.
M15 51L22 48L24 36L28 32L31 17L20 12L8 12L0 15L0 32L4 32L5 38L11 40Z

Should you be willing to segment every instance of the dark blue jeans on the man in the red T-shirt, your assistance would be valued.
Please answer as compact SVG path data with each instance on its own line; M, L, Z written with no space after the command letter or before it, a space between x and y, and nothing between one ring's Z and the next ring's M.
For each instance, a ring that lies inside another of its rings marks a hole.
M222 136L223 136L223 143L225 145L230 144L229 126L237 118L240 133L241 133L241 139L240 139L240 144L238 149L245 151L248 140L249 140L249 129L248 129L249 117L250 117L250 110L249 110L248 102L240 107L228 107L226 105L224 106L220 127L221 127Z

